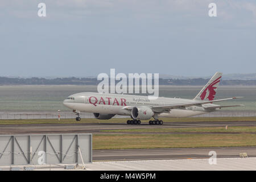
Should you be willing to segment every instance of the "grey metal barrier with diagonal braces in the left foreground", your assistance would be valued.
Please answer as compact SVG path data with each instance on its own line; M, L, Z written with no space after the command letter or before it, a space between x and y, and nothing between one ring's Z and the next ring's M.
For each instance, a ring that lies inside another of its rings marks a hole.
M0 166L92 162L92 134L0 135Z

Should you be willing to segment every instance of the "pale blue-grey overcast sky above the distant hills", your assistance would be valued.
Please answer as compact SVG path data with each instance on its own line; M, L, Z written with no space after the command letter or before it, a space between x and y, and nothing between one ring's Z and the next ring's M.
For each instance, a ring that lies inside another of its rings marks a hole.
M255 0L2 0L0 18L0 76L256 72Z

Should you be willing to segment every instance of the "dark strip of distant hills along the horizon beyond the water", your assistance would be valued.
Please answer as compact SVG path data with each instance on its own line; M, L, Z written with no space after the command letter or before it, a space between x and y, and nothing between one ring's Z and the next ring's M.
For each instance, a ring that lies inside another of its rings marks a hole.
M209 78L168 79L159 78L159 85L205 85ZM0 85L97 85L97 78L10 78L0 77ZM128 82L128 81L127 81ZM220 85L256 86L255 80L222 80Z

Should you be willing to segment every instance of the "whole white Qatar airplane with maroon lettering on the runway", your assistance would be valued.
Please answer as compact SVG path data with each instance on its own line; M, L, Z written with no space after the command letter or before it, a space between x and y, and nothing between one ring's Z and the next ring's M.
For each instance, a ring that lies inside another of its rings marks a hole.
M223 107L235 107L243 105L217 105L215 102L234 100L243 97L231 97L214 100L222 73L215 73L204 88L192 100L183 98L158 97L156 100L148 100L147 96L128 94L109 94L96 92L76 93L68 96L63 105L72 109L77 115L76 121L80 121L81 111L93 113L97 119L111 119L114 115L128 115L129 125L141 125L141 120L150 120L150 125L163 125L159 118L192 117L220 110Z

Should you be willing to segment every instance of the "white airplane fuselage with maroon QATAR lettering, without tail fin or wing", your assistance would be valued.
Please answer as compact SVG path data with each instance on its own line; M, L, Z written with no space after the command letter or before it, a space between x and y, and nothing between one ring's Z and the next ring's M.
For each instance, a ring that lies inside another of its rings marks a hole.
M131 110L124 109L126 106L147 106L150 108L152 106L181 104L191 101L192 100L167 97L148 100L147 96L85 92L69 96L64 100L63 104L69 109L84 111L86 113L131 115ZM216 109L207 110L203 106L188 106L182 109L172 109L167 113L160 113L158 117L191 117L215 110Z

